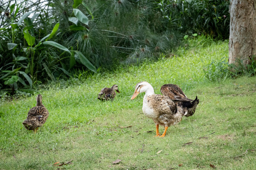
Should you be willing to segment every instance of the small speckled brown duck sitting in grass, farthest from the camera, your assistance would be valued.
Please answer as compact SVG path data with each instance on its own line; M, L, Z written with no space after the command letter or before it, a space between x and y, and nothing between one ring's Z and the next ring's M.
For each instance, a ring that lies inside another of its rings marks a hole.
M116 92L120 93L118 90L118 85L113 85L111 88L105 87L101 89L101 92L98 94L98 99L101 101L113 100L116 97Z

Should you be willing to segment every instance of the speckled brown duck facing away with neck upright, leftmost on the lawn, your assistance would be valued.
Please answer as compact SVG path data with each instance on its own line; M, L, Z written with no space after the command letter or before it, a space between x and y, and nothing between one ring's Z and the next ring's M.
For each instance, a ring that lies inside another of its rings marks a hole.
M42 104L42 95L37 95L37 106L31 108L27 113L27 119L23 121L24 127L28 130L37 132L37 128L41 127L48 118L49 112Z

